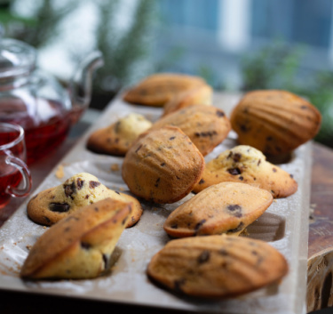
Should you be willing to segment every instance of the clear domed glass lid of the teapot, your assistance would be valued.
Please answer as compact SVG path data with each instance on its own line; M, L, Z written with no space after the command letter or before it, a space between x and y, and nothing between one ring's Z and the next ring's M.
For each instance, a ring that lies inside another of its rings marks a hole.
M0 79L27 75L36 65L34 47L12 38L0 38Z

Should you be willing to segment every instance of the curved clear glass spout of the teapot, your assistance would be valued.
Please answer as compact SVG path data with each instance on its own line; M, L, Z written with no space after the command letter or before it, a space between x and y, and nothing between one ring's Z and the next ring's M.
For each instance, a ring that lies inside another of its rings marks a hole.
M69 94L74 110L86 109L91 101L92 76L104 65L102 52L91 52L75 71L69 85Z

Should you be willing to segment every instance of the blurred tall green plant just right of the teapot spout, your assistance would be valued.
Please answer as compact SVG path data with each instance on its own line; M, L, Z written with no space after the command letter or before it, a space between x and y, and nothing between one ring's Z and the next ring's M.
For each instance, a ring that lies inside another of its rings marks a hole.
M119 0L100 0L98 4L97 48L103 52L105 66L97 73L95 82L99 84L95 87L117 92L123 86L133 83L133 71L140 61L147 60L149 56L155 23L155 1L139 0L132 23L125 30L119 30L115 25ZM147 72L139 68L137 76L141 78L146 75Z

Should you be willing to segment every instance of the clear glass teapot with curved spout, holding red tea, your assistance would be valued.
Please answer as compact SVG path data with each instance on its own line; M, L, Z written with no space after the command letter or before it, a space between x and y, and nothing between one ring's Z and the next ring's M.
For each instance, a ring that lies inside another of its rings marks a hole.
M23 126L28 164L49 154L65 140L91 101L92 74L103 64L91 52L65 89L36 69L36 50L11 38L0 38L0 121Z

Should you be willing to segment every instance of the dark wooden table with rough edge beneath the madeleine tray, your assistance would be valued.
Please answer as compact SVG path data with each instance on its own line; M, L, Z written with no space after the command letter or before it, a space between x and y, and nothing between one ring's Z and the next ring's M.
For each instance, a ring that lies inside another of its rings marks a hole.
M52 157L47 157L31 165L33 190L43 181L47 173L57 165L59 159L72 148L81 133L89 126L80 122L75 126L72 136L67 138ZM79 131L78 131L79 130ZM74 135L73 135L74 134ZM0 227L24 199L12 199L11 203L0 210ZM307 211L305 210L305 213ZM309 270L308 270L308 312L333 306L333 149L313 143L313 170L311 185L311 214L309 224ZM311 265L311 266L310 266ZM131 283L129 283L131 284ZM0 312L2 314L26 313L73 313L75 311L120 312L138 311L137 306L69 299L52 295L22 294L0 291ZM331 310L331 309L330 309ZM145 313L155 313L156 309L146 309ZM158 310L170 313L170 310ZM172 310L172 313L184 311Z

